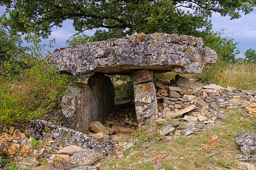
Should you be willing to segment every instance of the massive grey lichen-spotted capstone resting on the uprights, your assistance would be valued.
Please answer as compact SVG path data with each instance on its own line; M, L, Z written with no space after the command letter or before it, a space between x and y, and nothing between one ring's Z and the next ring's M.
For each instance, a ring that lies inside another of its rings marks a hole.
M177 34L137 34L125 38L56 49L48 61L63 73L89 77L95 72L131 75L154 72L201 73L217 62L217 53L202 38Z

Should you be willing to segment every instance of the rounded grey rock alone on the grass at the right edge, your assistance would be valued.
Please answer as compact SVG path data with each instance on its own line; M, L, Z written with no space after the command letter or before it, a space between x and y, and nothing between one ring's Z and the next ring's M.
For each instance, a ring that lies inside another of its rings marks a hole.
M241 152L250 154L256 149L256 134L251 131L241 131L236 138L236 141L241 145Z

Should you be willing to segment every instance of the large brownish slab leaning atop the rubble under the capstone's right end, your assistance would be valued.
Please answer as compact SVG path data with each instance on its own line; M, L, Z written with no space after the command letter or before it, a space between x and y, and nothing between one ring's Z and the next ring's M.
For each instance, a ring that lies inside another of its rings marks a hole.
M186 77L182 77L179 74L176 74L175 82L176 85L181 87L181 89L183 90L181 94L191 95L203 88L202 84L196 83Z

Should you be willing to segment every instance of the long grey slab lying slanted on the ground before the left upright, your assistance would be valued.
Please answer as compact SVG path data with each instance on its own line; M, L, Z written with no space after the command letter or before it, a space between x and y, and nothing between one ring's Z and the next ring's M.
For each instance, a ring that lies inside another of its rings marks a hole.
M55 140L55 143L57 143L60 139L66 137L62 142L67 146L76 145L83 149L90 148L93 152L97 152L102 155L109 155L113 153L113 144L109 142L97 140L89 135L63 126L54 125L45 120L32 120L28 130L36 140Z

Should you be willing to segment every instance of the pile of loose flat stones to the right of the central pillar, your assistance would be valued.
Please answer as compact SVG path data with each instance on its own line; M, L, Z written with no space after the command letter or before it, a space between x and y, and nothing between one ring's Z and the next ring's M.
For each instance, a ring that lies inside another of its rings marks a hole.
M245 108L256 114L256 91L202 85L199 79L175 76L175 80L154 80L157 96L158 119L163 124L161 135L177 129L174 136L188 136L207 130L225 118L225 108Z

